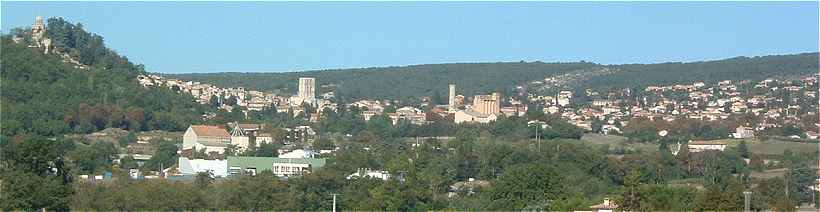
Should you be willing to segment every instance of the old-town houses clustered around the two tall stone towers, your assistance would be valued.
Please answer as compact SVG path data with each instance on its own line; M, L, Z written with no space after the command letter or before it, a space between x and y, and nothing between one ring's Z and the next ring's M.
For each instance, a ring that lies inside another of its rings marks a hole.
M167 87L180 93L189 93L201 104L212 104L213 97L217 97L216 100L219 101L220 109L230 111L233 107L240 107L245 114L249 111L260 111L268 107L275 107L277 111L291 111L294 115L298 115L306 112L303 106L307 104L316 108L314 114L308 116L310 117L309 121L315 122L318 121L321 112L326 108L333 111L337 109L337 104L331 101L334 97L333 92L324 93L321 98L316 97L316 81L314 78L308 77L299 78L299 91L294 96L278 96L272 93L245 90L242 87L220 88L210 84L168 79L150 74L140 75L138 81L145 87ZM236 100L235 104L226 104L224 99L227 98L234 98ZM388 100L359 100L345 106L362 108L361 115L365 120L369 120L375 115L386 115L393 124L406 120L416 125L427 124L437 119L453 120L456 123L488 123L496 120L502 114L518 116L523 115L527 110L525 105L512 98L509 99L512 106L501 107L502 99L498 93L476 95L473 97L473 104L465 105L463 104L465 97L456 95L455 85L450 85L449 100L448 105L436 105L430 111L405 106L396 109L394 112L385 113L384 109L391 106L391 101Z

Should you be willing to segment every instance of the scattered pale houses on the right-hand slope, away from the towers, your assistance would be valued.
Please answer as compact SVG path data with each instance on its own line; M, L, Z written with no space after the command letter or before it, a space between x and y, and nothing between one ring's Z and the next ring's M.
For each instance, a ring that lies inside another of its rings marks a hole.
M619 126L626 126L630 119L638 117L671 122L676 119L720 121L733 115L752 115L756 117L754 122L740 123L741 127L731 135L750 138L766 129L801 123L802 115L816 116L817 83L817 75L809 75L799 80L766 79L757 83L724 80L715 84L648 86L642 98L630 89L605 95L587 90L580 95L592 100L575 107L569 106L573 101L571 91L561 91L554 96L530 94L529 99L542 104L544 113L559 114L586 130L592 130L593 120L601 120L604 134L620 132ZM817 139L818 132L807 131L805 135L796 136Z

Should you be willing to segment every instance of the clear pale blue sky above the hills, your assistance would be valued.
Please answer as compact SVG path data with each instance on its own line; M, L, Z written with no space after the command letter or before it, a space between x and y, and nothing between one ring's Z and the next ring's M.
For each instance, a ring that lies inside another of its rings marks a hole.
M818 2L3 2L80 22L148 71L712 60L818 51Z

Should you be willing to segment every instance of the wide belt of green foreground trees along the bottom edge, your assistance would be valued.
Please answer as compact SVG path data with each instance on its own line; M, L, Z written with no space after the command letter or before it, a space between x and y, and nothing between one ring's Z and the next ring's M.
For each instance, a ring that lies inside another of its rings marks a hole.
M129 180L75 183L76 210L330 210L339 194L343 210L588 210L614 199L621 210L738 211L743 191L753 210L791 211L811 202L810 168L817 155L785 153L784 176L752 179L742 148L680 152L662 143L657 151L616 157L606 146L577 140L499 141L485 130L461 129L455 139L418 145L396 141L337 143L328 165L287 179L256 176L184 182ZM663 141L671 142L671 141ZM394 177L345 179L359 168ZM123 174L124 175L124 174ZM484 186L453 189L470 178ZM786 192L786 189L790 192Z

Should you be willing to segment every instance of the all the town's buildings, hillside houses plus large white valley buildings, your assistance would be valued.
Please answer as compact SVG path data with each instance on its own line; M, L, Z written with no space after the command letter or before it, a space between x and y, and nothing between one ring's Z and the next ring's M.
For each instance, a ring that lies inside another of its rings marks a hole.
M544 81L535 81L529 85L544 85L553 82L554 78ZM218 108L231 111L240 108L244 114L249 111L261 111L265 108L276 108L277 111L290 111L293 114L308 112L309 107L317 110L310 111L309 122L316 122L322 111L336 110L332 91L321 97L316 97L317 79L302 77L298 80L298 92L293 96L275 95L272 93L245 90L244 88L219 88L201 82L167 79L157 75L142 75L139 83L142 86L160 86L187 93L201 104L212 104L214 99L223 100L235 98L233 105L219 102ZM605 135L621 135L622 128L629 126L630 120L644 119L649 121L674 122L676 120L692 120L702 122L721 122L727 120L741 120L728 124L732 131L719 135L719 139L751 139L757 136L768 136L768 129L779 128L783 125L797 125L806 118L816 117L817 104L817 75L801 77L797 80L766 79L752 81L718 81L707 84L694 82L692 84L656 85L648 86L643 90L633 91L621 89L613 91L586 90L574 93L570 90L561 90L553 95L537 95L527 93L525 86L517 89L526 93L503 98L499 93L475 95L465 98L457 94L457 86L448 86L447 105L394 105L391 100L359 100L345 107L361 108L360 115L366 121L373 116L386 115L392 124L400 121L414 125L424 125L434 120L449 120L460 123L490 123L500 117L525 117L528 110L540 110L544 114L561 118L590 133ZM579 100L580 99L580 100ZM471 100L472 104L465 104ZM523 102L529 102L524 104ZM394 108L387 112L386 108ZM537 121L531 121L537 123ZM814 126L820 127L815 122ZM324 158L315 158L320 154L328 154L335 149L312 149L309 142L302 149L298 145L284 141L284 148L279 149L278 157L254 158L240 156L226 156L227 151L242 152L250 148L249 145L260 145L274 142L269 133L259 133L264 125L253 123L231 123L230 131L224 126L192 125L183 136L181 148L182 157L172 167L162 171L167 177L194 176L196 173L210 173L213 177L226 177L240 173L256 173L262 170L273 171L280 177L288 177L299 173L307 173L312 169L321 168L326 162ZM548 125L542 125L548 128ZM286 129L300 132L299 135L309 137L313 141L316 132L310 126L300 126L297 129ZM661 129L658 133L663 136L667 131ZM792 139L818 139L817 131L806 130L801 133L786 136ZM249 142L253 138L255 142ZM680 148L682 145L675 145ZM723 151L725 141L698 140L690 141L686 148L689 152L703 152L707 150ZM228 150L232 148L231 150ZM673 149L677 154L680 149ZM351 177L372 177L388 179L394 173L384 170L359 170L351 173Z

